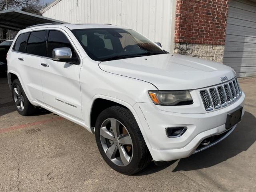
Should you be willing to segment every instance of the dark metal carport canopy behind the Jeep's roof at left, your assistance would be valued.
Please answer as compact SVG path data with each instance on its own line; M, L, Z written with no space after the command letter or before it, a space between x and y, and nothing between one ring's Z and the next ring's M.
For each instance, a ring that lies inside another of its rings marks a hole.
M66 23L63 21L14 9L0 11L0 28L6 28L14 31L19 31L32 25L52 22Z

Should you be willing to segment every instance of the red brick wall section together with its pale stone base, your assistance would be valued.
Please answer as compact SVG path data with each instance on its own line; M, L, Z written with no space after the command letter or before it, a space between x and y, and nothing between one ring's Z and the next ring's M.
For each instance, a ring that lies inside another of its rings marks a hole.
M223 63L229 0L177 0L174 52Z

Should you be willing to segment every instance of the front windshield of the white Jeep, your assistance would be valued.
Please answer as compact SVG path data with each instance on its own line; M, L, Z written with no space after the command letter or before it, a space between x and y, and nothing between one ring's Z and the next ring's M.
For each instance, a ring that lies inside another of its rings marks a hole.
M88 56L96 61L168 53L131 29L78 29L72 32Z

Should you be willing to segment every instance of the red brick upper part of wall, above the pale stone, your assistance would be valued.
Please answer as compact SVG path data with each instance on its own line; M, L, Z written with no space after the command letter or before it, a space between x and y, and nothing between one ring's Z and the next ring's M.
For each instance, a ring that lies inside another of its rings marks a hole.
M176 43L224 45L229 0L177 0Z

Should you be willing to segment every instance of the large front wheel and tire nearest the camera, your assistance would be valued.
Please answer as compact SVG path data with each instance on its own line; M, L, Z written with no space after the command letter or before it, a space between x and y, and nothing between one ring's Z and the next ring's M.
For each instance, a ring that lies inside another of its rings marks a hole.
M135 174L151 161L140 128L130 110L112 106L96 120L95 137L100 154L114 170Z

